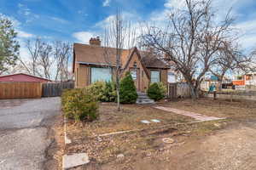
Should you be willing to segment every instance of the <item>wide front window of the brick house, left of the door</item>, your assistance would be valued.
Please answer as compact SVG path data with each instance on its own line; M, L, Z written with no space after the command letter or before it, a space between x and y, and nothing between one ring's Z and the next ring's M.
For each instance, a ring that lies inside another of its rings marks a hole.
M90 82L110 82L112 81L111 68L91 67L90 69Z

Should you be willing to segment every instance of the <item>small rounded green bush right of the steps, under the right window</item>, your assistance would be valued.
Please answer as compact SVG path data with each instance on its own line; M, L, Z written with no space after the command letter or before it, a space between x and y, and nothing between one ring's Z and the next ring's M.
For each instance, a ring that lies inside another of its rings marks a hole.
M160 89L157 82L154 82L149 86L147 94L150 99L154 99L155 101L158 101L165 97L165 94L163 94L163 89Z

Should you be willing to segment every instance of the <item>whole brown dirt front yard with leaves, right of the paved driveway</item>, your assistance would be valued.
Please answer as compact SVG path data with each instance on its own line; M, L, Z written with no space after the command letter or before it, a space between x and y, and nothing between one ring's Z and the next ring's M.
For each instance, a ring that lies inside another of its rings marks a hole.
M256 103L190 99L160 103L183 111L226 120L194 122L152 106L101 105L101 119L67 126L65 153L86 152L90 163L73 169L256 169ZM141 120L160 123L143 124ZM98 134L136 130L97 137ZM165 143L163 139L173 141Z

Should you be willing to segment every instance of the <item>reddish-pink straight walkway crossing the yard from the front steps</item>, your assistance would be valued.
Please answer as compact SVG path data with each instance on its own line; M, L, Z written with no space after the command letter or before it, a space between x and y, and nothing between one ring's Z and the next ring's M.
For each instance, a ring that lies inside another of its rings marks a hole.
M204 115L201 115L199 113L194 113L194 112L190 112L190 111L182 111L182 110L178 110L178 109L173 109L171 107L156 106L154 108L160 109L162 111L170 111L170 112L176 113L178 115L189 116L189 117L195 118L195 120L197 120L197 121L202 121L202 122L205 122L205 121L216 121L216 120L224 119L224 118L219 118L219 117L216 117L216 116L204 116Z

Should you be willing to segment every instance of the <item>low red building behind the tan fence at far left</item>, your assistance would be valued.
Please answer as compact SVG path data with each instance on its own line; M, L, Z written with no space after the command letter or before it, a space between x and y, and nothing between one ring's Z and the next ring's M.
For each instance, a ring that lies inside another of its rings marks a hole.
M32 75L17 73L11 75L0 76L0 82L51 82L48 79L35 77Z

